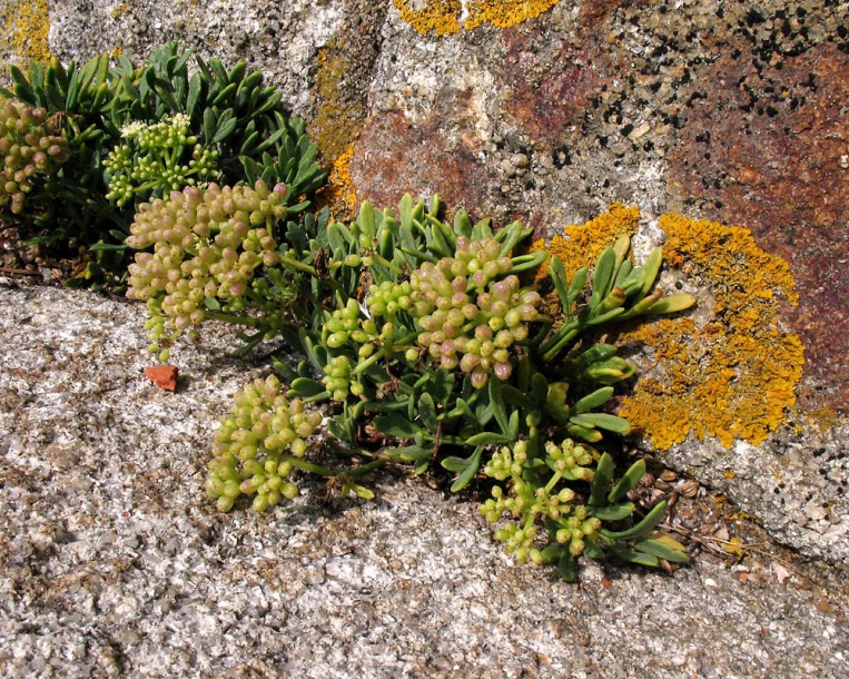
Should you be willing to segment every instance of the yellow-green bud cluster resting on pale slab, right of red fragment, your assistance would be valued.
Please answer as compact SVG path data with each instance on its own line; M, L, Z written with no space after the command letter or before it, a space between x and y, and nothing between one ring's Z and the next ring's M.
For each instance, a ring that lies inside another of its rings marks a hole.
M254 495L253 506L261 512L283 498L297 496L298 488L288 479L295 469L292 459L306 454L305 439L322 414L283 396L274 375L255 380L235 401L215 433L206 492L219 511L228 511L240 495Z

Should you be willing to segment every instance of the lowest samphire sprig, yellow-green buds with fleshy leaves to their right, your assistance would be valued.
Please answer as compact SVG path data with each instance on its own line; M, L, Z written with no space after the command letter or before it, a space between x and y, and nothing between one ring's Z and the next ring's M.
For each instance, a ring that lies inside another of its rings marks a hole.
M608 453L564 439L560 444L546 441L534 455L526 441L519 441L493 454L483 471L507 482L506 488L492 488L481 512L487 522L501 524L495 539L522 563L555 563L563 579L572 581L581 554L602 559L610 552L643 565L658 565L661 559L688 561L683 545L654 530L665 514L665 502L619 528L634 513L626 496L645 473L642 460L611 488L613 461Z

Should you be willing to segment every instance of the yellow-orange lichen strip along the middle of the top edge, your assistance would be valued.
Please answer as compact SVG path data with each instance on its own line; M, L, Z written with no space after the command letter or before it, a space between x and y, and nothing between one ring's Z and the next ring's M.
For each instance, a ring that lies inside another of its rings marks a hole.
M433 31L437 36L448 36L460 31L461 0L392 1L401 11L401 18L422 35ZM510 28L539 17L557 2L560 0L467 0L463 28L470 31L482 23Z

